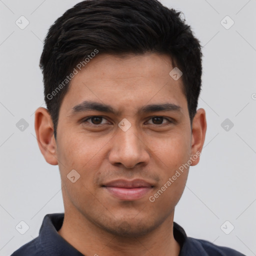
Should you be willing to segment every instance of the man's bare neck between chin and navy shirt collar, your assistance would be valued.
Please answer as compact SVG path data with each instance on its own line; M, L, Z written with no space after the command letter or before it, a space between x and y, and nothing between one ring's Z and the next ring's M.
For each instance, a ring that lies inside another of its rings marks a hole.
M157 228L143 236L117 237L71 209L65 211L58 233L84 255L178 256L180 246L173 237L173 215L174 211Z

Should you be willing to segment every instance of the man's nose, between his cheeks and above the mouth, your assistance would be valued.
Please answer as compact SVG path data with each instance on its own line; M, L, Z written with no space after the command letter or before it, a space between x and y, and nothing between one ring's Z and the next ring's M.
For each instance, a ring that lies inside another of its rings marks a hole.
M126 168L133 168L136 164L146 165L149 162L150 155L145 137L139 134L133 125L126 131L121 129L117 131L112 138L112 146L108 154L111 164L122 164Z

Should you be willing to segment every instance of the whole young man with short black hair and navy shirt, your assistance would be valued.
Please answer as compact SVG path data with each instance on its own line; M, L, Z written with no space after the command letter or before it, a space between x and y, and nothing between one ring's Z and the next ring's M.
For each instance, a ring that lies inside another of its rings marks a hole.
M173 222L206 132L200 44L179 14L87 0L50 27L35 131L59 166L64 214L47 214L13 256L243 255Z

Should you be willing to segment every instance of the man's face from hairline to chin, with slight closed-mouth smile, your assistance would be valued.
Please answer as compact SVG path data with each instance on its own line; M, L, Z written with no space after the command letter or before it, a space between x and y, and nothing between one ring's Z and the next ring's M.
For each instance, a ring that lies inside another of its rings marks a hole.
M101 54L73 77L52 146L65 212L125 236L173 218L188 175L179 168L201 149L205 131L198 113L191 129L172 68L162 54Z

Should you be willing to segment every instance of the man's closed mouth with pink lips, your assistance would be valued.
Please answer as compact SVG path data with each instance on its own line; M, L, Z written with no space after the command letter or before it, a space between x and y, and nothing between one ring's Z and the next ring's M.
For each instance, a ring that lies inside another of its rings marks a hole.
M142 179L118 179L105 183L102 187L115 198L132 201L145 196L154 186Z

